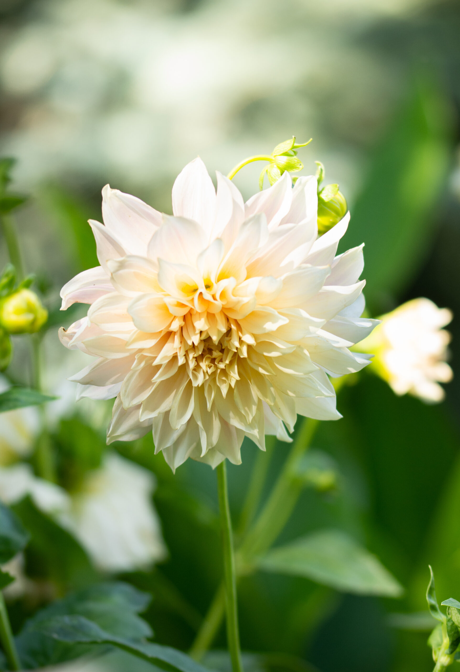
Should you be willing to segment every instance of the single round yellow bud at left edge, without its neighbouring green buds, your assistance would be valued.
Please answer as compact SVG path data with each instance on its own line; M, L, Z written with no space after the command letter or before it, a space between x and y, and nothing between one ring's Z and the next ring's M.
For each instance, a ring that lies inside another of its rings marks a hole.
M34 333L48 319L48 310L28 289L20 289L0 300L0 327L11 334Z

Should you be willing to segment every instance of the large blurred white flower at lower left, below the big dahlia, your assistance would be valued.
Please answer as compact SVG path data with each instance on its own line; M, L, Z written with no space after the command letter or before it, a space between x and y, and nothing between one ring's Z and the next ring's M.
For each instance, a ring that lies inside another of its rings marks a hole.
M152 504L154 475L116 454L88 472L60 516L100 569L130 571L163 560L167 549Z

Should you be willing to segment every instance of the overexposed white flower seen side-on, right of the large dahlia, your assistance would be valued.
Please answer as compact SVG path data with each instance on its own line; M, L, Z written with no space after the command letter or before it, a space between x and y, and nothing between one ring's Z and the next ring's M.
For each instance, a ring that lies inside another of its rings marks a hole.
M375 353L371 370L386 380L396 394L413 394L427 402L442 401L439 382L453 373L445 362L452 313L427 298L416 298L381 317L381 324L357 347Z

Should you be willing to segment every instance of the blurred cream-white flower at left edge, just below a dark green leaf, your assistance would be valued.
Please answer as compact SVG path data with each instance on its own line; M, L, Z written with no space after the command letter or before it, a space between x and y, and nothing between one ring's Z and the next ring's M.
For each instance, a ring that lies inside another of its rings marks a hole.
M0 392L10 387L0 376ZM11 464L30 455L40 431L40 417L35 407L6 411L0 416L0 465Z

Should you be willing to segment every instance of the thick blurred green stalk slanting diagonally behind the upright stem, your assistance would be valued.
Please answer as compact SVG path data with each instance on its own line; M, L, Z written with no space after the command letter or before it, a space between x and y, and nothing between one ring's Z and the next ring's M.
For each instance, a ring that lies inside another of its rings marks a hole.
M259 552L267 550L287 523L302 491L300 480L296 480L294 476L295 467L300 462L304 453L310 448L318 424L318 420L311 418L302 420L302 427L299 433L297 433L295 442L267 503L265 503L261 513L257 517L254 526L250 528L249 532L242 539L241 550L245 551L243 555L244 560L248 560L247 554L250 550L259 550ZM262 457L265 457L265 454L262 454ZM274 515L273 518L271 518L272 515ZM223 617L224 591L223 586L220 585L191 648L191 655L196 660L199 660L211 646Z

